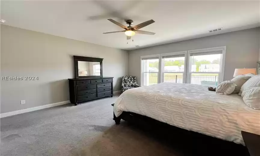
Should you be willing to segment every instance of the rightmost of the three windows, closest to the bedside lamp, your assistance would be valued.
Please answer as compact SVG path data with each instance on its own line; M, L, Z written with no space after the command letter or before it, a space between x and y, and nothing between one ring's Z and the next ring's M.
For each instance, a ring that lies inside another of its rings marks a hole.
M223 48L188 51L187 83L216 87L223 81L223 52Z

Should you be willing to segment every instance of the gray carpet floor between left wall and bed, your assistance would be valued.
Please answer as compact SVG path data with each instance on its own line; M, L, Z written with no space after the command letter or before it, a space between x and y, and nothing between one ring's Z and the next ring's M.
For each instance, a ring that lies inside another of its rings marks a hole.
M2 118L1 156L180 155L126 122L115 125L117 98Z

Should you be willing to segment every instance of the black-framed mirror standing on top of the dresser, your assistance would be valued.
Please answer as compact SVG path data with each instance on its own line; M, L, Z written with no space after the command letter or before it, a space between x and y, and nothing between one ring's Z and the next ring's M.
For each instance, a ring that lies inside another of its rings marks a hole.
M103 58L73 56L75 64L75 78L103 77Z

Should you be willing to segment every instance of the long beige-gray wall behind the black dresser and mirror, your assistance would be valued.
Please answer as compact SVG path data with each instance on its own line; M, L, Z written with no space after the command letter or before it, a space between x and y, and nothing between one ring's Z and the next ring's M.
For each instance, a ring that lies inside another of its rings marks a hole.
M103 76L113 76L114 91L121 90L121 76L127 75L126 51L1 25L1 76L39 77L1 79L1 113L69 100L73 55L104 58Z

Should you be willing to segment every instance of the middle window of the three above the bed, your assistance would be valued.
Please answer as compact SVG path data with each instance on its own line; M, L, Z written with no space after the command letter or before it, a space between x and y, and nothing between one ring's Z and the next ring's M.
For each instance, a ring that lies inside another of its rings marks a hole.
M173 52L161 54L162 74L161 82L183 83L185 82L185 54Z

